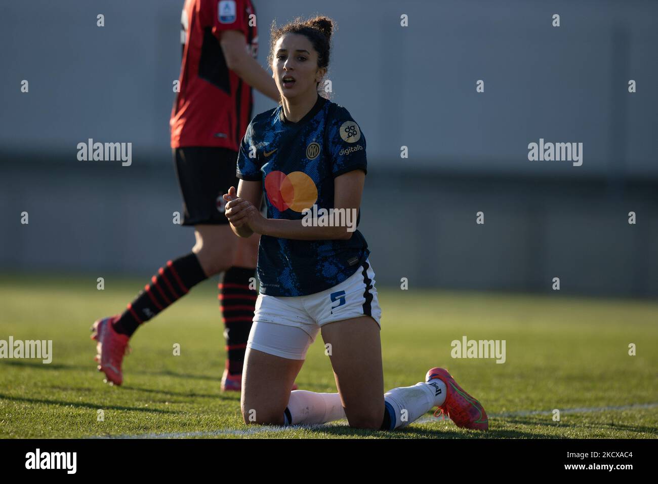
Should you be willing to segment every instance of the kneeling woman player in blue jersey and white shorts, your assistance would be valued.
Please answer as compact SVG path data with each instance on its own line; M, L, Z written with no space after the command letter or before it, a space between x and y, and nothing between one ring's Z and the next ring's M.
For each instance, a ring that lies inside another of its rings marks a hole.
M352 427L389 430L438 406L459 427L486 430L480 402L445 369L384 394L382 311L365 238L349 217L338 225L303 220L305 209L358 213L367 170L361 128L347 109L318 95L332 29L326 17L272 29L269 62L282 103L249 124L238 154L238 191L224 196L234 232L261 234L243 419L294 425L347 417ZM267 218L257 209L263 190ZM291 392L318 331L338 393Z

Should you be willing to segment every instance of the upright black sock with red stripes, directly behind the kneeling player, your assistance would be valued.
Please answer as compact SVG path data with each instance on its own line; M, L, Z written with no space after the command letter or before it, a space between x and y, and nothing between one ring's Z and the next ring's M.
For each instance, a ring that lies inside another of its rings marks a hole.
M247 338L258 297L255 288L249 289L249 279L252 277L255 277L255 269L231 267L224 273L224 280L218 284L219 307L226 327L226 367L230 375L242 373Z

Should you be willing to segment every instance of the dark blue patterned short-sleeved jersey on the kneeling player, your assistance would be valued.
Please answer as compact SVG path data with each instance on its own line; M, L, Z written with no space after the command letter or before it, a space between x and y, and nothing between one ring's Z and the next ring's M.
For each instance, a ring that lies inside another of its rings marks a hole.
M334 178L353 170L367 171L363 132L347 109L319 95L298 122L286 119L280 105L254 117L238 154L238 178L263 183L268 219L301 220L313 205L334 208ZM290 297L326 290L353 275L369 253L359 230L349 240L263 235L260 292Z

